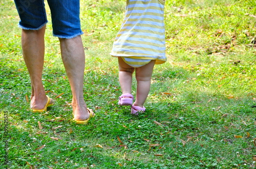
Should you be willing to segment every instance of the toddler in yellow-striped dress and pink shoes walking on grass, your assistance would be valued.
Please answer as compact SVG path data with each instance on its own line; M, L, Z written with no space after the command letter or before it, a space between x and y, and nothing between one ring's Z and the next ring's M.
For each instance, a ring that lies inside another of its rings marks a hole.
M131 105L131 114L144 112L155 64L166 62L164 0L126 0L125 18L113 43L111 55L118 58L122 95L119 105ZM132 75L137 80L136 100Z

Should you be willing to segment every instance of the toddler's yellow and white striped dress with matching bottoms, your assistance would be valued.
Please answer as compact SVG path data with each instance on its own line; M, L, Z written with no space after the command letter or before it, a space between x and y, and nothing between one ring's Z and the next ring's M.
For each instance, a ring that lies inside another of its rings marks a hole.
M125 18L111 55L132 67L166 62L163 0L126 0Z

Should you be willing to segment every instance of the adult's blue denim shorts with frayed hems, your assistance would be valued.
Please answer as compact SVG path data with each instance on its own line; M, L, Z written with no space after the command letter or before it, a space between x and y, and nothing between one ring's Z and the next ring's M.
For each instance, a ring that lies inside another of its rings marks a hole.
M47 22L44 0L14 0L19 14L19 27L39 30ZM80 24L79 0L48 0L51 10L53 36L74 38L83 34Z

